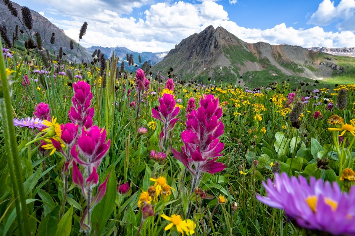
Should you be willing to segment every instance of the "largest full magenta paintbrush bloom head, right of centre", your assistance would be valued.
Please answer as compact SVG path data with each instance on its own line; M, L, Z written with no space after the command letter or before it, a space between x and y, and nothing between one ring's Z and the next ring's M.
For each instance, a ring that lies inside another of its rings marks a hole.
M188 103L190 109L193 107L193 100ZM215 160L222 156L224 143L219 142L219 136L224 132L224 125L221 121L222 108L219 106L218 98L213 95L203 95L200 100L200 107L192 109L186 120L186 131L181 132L181 140L185 147L181 152L173 149L176 159L181 161L193 175L202 172L217 173L223 171L225 165ZM194 166L194 168L193 168Z

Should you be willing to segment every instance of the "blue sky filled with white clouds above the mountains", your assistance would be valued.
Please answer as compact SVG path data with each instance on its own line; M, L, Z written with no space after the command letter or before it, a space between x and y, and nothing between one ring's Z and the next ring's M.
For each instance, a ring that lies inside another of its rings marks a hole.
M14 0L78 40L163 52L208 25L241 40L302 47L355 47L355 0Z

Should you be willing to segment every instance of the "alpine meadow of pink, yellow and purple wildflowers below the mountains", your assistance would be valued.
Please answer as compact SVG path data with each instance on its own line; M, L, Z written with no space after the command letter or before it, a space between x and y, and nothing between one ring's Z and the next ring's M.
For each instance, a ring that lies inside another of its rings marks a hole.
M23 50L0 42L3 236L355 235L355 84L71 63L22 21Z

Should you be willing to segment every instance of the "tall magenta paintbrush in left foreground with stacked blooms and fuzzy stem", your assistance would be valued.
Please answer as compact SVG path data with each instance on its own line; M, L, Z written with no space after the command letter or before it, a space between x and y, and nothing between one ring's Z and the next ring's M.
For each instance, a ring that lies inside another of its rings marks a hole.
M87 199L87 207L80 221L81 231L91 230L90 217L92 208L103 198L106 191L106 180L99 186L97 194L92 196L92 190L98 184L97 168L110 147L110 139L106 142L106 130L92 126L94 108L91 107L93 94L91 86L85 81L73 83L74 96L69 118L73 123L61 126L61 139L70 150L71 157L65 162L65 170L73 163L73 182L77 184L83 196ZM80 132L81 131L81 132ZM77 163L83 168L78 168ZM82 172L80 169L83 169Z

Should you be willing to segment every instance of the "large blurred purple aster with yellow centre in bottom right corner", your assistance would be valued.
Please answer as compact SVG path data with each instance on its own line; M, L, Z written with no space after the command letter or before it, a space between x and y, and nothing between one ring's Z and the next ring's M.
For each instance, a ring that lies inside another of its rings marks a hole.
M263 182L267 197L257 195L264 204L280 208L298 225L310 230L327 232L331 235L355 235L355 187L349 194L342 193L337 182L322 179L307 179L299 175L288 177L286 173L275 174Z

